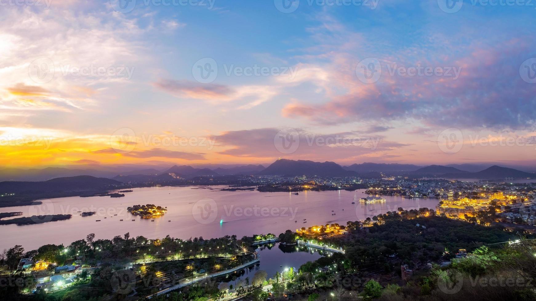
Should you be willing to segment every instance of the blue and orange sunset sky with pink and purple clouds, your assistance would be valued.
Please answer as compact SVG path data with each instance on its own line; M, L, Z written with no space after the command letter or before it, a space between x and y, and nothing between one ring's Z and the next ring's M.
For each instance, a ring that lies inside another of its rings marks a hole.
M536 165L532 2L0 5L0 167Z

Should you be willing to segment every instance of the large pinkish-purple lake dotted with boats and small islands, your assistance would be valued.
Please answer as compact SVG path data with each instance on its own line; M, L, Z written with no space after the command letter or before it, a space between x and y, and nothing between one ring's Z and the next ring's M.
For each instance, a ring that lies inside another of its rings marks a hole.
M386 202L361 204L364 189L355 191L289 192L221 191L224 186L134 188L125 197L65 197L42 200L41 205L5 207L1 212L23 212L24 217L72 214L69 220L39 225L0 226L0 250L19 244L26 250L44 244L65 244L94 233L95 239L113 238L127 232L131 237L188 239L273 233L315 224L363 220L397 210L435 208L438 199L408 199L384 196ZM355 202L355 204L352 204ZM162 217L141 218L126 211L137 204L167 207ZM81 217L81 212L96 212ZM117 214L117 215L116 215ZM122 221L121 221L122 219ZM100 220L100 221L96 221Z

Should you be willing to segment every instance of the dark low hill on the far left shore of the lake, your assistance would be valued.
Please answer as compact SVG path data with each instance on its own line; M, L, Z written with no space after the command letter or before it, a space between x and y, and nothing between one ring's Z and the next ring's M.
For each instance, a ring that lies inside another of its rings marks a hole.
M0 182L0 194L41 194L53 191L107 190L120 186L123 186L123 183L116 180L80 175L58 177L57 179L42 182L4 181Z

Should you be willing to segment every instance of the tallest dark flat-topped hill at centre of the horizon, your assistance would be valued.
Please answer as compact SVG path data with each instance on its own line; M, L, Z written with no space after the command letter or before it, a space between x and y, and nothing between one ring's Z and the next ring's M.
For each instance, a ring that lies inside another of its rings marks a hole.
M266 167L258 175L317 175L317 176L353 176L355 172L346 171L337 163L325 161L314 162L306 160L279 159Z

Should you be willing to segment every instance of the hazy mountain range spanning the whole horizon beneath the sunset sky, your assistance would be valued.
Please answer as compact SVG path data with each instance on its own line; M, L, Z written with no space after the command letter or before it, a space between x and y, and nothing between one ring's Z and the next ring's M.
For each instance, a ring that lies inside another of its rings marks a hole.
M114 171L99 171L98 169L69 169L47 167L43 169L0 169L0 181L30 181L40 182L58 177L89 175L94 177L114 179L124 183L142 183L148 181L176 181L192 179L199 176L225 175L318 175L318 176L362 176L379 177L381 173L407 176L442 176L464 177L475 179L500 179L504 177L526 178L535 174L519 171L518 169L483 164L449 164L418 166L413 164L362 163L341 166L331 161L315 162L310 160L278 159L268 167L263 165L242 165L226 168L222 165L204 165L211 168L196 168L189 165L174 165L167 169L143 168L117 173ZM130 166L132 168L133 166ZM214 168L217 167L217 168Z

